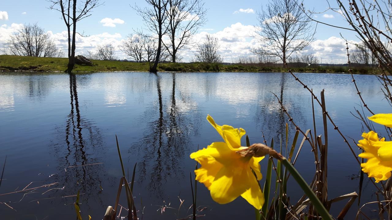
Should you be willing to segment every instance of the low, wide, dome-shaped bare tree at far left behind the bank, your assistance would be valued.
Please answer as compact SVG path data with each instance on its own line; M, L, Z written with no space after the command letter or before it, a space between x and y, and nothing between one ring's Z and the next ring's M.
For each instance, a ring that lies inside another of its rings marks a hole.
M61 57L63 52L37 23L24 24L4 45L4 54L36 57Z

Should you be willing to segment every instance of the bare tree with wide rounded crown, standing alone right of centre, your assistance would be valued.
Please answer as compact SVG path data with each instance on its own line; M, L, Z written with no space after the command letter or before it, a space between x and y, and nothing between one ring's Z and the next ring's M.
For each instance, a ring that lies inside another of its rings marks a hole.
M252 48L255 54L277 57L286 63L314 40L313 26L303 14L303 4L295 0L270 0L267 9L258 13L256 38L260 45Z

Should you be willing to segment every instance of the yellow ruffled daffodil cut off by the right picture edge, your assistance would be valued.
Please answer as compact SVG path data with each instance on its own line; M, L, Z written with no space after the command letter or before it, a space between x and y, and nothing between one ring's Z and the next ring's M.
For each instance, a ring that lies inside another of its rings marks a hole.
M392 127L392 114L376 114L369 119ZM374 177L376 182L387 180L392 171L392 141L385 141L385 138L379 139L377 133L373 131L363 133L362 137L358 146L364 152L358 156L367 159L366 163L361 164L362 171L369 177Z

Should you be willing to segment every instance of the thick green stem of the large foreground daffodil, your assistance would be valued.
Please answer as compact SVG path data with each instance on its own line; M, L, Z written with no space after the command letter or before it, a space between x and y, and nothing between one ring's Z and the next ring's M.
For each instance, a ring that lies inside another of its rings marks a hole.
M293 178L298 182L301 189L305 192L305 194L309 197L313 206L318 211L319 215L323 218L323 220L333 220L331 215L328 213L327 209L323 206L321 201L316 197L312 189L310 189L309 185L305 180L299 175L298 171L292 166L292 164L285 158L282 161L282 164L289 170Z

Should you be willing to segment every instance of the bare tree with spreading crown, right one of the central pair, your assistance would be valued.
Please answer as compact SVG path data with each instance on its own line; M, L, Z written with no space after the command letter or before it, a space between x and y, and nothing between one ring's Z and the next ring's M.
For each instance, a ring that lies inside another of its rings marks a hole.
M163 41L163 46L171 55L173 63L177 61L177 52L194 46L192 36L198 28L207 22L207 10L201 0L169 0L167 19L169 42Z

